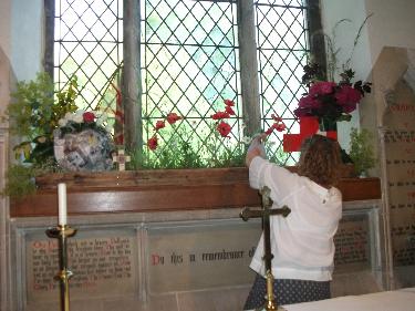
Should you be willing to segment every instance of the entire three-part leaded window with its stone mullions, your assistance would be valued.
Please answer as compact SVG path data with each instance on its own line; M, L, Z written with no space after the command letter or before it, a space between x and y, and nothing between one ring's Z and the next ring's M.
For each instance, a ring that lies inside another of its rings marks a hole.
M269 128L272 115L299 131L292 111L305 91L310 46L320 44L309 40L319 28L317 0L44 3L45 69L56 90L76 75L77 105L105 111L141 166L240 165L243 141ZM225 100L235 103L222 120L227 137L212 118ZM181 118L169 124L169 113ZM281 164L297 160L282 152L280 132L267 148Z

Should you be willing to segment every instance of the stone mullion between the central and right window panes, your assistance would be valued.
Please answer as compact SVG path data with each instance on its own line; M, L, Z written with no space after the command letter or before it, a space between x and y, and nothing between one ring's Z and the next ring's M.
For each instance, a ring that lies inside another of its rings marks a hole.
M242 114L246 134L260 131L260 106L258 87L258 63L252 0L238 2L239 60L242 94Z

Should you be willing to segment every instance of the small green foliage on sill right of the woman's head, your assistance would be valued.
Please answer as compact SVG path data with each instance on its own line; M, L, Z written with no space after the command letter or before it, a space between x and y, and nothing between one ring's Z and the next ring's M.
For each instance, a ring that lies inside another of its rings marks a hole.
M350 134L350 157L354 164L356 174L363 175L374 167L376 159L372 146L373 135L366 128L360 132L352 128Z

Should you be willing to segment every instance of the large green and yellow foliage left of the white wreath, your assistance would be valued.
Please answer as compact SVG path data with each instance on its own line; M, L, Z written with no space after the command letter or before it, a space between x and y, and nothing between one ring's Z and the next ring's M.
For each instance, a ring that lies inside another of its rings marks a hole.
M76 87L76 77L73 77L68 90L58 92L54 100L54 84L44 72L38 73L32 81L18 82L6 112L10 133L23 139L13 147L17 158L23 154L24 162L39 164L53 158L53 131L60 118L77 110Z

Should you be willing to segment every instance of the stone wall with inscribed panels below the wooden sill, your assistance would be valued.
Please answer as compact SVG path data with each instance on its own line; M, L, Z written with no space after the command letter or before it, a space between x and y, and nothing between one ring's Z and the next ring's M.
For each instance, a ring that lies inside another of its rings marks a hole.
M378 200L345 204L336 236L333 296L377 291ZM74 310L241 310L261 234L238 208L70 217ZM54 217L11 219L13 309L56 310ZM361 280L356 286L355 279Z

